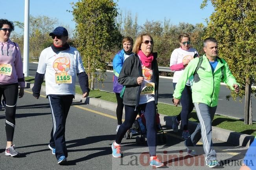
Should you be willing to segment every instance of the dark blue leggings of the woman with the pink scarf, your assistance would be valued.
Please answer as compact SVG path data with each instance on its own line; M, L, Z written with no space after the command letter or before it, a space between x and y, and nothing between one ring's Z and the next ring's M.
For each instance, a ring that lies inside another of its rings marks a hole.
M127 132L129 128L133 125L138 111L135 110L135 106L124 106L125 108L125 121L118 129L116 134L116 143L120 144L123 136ZM149 146L149 154L150 156L156 155L157 149L157 131L156 131L156 105L155 101L151 101L148 103L140 104L138 106L138 110L144 113L146 119L146 128L147 128L147 145Z

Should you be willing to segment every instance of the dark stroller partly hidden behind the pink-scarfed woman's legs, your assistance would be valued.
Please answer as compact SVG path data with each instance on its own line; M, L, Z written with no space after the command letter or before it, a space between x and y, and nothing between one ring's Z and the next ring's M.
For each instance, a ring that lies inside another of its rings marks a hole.
M159 113L156 114L156 130L157 130L157 142L166 143L166 135L162 125L160 124ZM145 138L147 138L147 129L146 129L146 119L144 113L140 115L138 119L135 120L131 131L136 131L140 136L136 136L136 144L145 144Z

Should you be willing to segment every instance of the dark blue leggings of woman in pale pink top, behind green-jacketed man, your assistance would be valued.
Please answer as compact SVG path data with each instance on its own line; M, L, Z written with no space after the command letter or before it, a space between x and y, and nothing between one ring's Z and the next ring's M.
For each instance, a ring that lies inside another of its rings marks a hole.
M173 83L173 88L177 83ZM182 122L183 130L188 130L188 114L193 111L194 104L192 102L192 91L190 86L185 86L184 90L181 93L180 104L182 106L180 114L177 116L177 121Z

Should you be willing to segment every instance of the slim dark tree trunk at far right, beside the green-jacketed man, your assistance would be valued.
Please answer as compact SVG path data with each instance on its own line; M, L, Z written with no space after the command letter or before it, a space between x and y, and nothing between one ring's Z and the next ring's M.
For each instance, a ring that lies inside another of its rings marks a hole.
M249 124L250 120L250 94L251 94L251 84L249 83L249 78L246 78L245 82L245 124Z

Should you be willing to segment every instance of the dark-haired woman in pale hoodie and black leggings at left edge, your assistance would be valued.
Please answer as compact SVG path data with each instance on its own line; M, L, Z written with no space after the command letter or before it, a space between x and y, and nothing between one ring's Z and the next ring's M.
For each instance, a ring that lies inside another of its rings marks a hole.
M0 96L6 100L6 156L19 154L13 145L13 134L17 98L23 97L25 87L20 48L9 39L13 30L13 22L0 19Z

